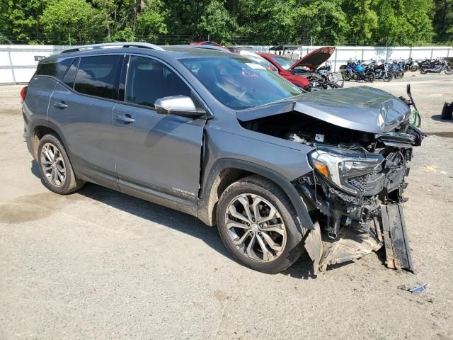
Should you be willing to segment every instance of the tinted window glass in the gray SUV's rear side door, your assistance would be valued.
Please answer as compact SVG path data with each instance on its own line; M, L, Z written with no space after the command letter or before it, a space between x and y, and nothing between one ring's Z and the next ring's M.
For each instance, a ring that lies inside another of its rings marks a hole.
M116 99L115 80L119 63L120 55L82 57L74 89L81 94Z

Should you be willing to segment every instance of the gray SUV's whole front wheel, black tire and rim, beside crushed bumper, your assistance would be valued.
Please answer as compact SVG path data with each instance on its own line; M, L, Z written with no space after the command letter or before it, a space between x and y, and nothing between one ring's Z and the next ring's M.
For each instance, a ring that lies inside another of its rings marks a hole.
M303 234L285 193L272 181L248 176L219 199L217 228L239 263L263 273L280 273L302 254Z

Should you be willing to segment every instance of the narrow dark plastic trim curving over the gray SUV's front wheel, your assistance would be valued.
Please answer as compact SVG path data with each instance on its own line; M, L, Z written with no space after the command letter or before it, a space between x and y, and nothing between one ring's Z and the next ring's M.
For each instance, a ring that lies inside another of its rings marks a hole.
M212 191L212 187L214 186L214 182L217 179L217 176L224 169L240 169L249 171L253 174L263 176L266 179L275 182L286 193L297 212L299 223L297 223L296 225L297 229L299 229L299 232L301 232L301 234L304 234L303 228L309 230L314 229L314 225L311 221L311 217L306 208L306 205L304 204L304 201L290 181L285 179L285 177L281 174L278 174L276 171L268 169L265 166L260 166L251 162L230 158L218 159L212 166L207 179L205 179L205 182L202 183L200 200L198 202L198 218L200 218L200 220L202 220L203 222L207 223L208 225L213 225L210 218L208 217L208 215L212 213L212 211L209 211L210 209L212 209L212 206L210 206L210 193Z

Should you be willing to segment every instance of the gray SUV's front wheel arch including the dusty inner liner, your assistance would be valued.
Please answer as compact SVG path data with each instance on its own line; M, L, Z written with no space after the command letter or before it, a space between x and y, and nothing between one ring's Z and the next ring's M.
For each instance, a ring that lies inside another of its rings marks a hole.
M223 191L235 181L250 175L262 176L273 181L285 192L297 212L297 228L302 233L305 229L314 229L313 222L296 188L284 176L272 169L238 159L218 159L211 168L207 180L200 190L198 218L207 225L216 225L216 210Z

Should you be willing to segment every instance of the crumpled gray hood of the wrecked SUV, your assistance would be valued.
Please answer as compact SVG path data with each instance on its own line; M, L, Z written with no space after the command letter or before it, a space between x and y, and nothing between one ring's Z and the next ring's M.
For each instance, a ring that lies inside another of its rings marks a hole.
M360 86L309 92L238 111L237 117L247 121L289 111L304 113L342 128L374 134L393 130L411 114L410 108L399 98L386 91Z

